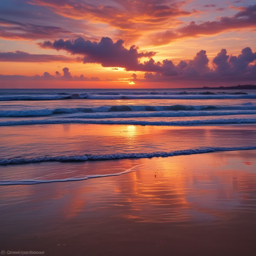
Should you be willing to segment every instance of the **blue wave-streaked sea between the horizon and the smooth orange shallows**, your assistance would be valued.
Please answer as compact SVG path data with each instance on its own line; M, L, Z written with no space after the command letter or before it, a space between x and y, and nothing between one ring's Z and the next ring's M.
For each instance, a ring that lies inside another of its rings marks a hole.
M234 115L240 123L246 118L255 123L255 113L255 90L0 90L0 126L93 121L89 119L104 123L108 118L117 123L135 118L152 125L152 118L189 121L196 116L200 121L225 116L229 120Z

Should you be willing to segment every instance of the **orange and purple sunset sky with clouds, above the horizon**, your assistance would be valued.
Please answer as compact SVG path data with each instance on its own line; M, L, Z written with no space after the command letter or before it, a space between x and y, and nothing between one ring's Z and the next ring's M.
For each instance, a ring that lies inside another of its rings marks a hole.
M0 88L256 83L255 0L0 0Z

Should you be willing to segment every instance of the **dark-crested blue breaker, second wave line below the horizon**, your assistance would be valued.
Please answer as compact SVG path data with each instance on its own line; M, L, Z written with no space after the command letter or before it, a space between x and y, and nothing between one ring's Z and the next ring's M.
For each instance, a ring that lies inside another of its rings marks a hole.
M236 112L235 112L236 111ZM256 105L169 105L169 106L140 106L140 105L113 105L100 107L80 107L80 108L42 108L42 109L19 109L1 110L0 117L40 117L61 114L86 113L83 118L111 118L111 117L151 117L151 116L208 116L208 115L233 115L255 114ZM140 113L132 113L140 112ZM144 113L142 113L144 112ZM161 112L161 113L153 113ZM192 113L193 112L193 113ZM99 114L104 113L104 114ZM120 114L119 114L120 113ZM78 116L78 115L74 115Z

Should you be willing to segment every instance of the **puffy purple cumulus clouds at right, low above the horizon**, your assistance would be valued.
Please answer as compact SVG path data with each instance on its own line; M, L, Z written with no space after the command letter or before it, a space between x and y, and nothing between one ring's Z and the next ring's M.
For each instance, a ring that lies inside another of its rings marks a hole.
M168 65L166 65L168 63ZM197 79L204 81L256 81L256 52L246 47L238 56L227 55L222 49L212 60L213 69L209 68L209 59L206 51L201 50L189 62L181 61L176 66L171 61L159 64L160 71L147 72L144 75L150 81L170 81L172 79ZM166 66L169 71L166 72Z

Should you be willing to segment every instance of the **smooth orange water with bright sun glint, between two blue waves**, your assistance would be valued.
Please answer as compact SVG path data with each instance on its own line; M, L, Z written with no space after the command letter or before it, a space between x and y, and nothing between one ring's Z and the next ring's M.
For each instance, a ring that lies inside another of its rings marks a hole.
M256 146L255 128L84 124L0 127L0 159Z

